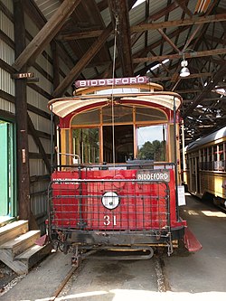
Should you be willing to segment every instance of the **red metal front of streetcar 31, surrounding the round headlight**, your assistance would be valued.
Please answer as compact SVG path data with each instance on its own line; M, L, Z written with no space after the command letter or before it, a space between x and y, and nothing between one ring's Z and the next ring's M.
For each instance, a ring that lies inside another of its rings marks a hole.
M169 215L175 225L174 171L169 173L171 180L165 184L137 181L137 170L81 171L80 180L78 172L55 172L52 225L78 230L163 230ZM119 202L115 209L102 203L108 192L118 195L112 199Z

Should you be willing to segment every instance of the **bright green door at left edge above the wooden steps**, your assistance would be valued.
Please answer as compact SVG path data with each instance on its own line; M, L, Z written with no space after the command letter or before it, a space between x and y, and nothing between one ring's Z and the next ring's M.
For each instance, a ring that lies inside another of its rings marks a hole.
M0 216L14 216L13 124L0 120Z

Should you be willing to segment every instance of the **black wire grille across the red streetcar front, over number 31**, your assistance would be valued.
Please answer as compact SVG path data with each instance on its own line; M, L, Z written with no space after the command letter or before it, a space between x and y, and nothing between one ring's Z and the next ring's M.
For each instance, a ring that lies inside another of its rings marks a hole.
M49 194L54 229L140 231L166 230L169 226L165 182L58 180L52 182Z

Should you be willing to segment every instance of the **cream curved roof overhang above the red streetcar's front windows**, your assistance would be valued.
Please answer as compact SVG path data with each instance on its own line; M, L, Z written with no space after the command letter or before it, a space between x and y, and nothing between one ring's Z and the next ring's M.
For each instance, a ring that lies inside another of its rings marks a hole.
M65 118L72 112L80 111L86 108L97 108L108 105L112 99L116 102L141 104L150 106L156 104L169 108L171 110L178 109L182 103L180 95L173 92L148 92L140 93L127 93L127 94L108 94L108 95L86 95L76 96L70 98L52 99L49 101L48 107L52 112L60 118Z

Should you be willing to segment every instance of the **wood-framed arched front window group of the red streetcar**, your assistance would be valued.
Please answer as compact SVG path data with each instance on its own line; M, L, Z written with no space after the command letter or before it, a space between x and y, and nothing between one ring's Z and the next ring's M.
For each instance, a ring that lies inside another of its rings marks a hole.
M164 162L169 160L167 130L167 116L159 108L115 105L90 109L71 118L71 152L80 156L82 164L130 159Z

